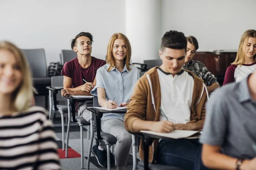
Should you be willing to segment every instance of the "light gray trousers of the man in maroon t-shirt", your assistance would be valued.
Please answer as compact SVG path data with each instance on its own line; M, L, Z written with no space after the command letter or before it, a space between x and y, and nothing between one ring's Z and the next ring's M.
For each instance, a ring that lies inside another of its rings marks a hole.
M90 120L90 111L88 111L86 108L87 107L92 107L93 102L92 101L85 101L85 102L79 102L78 104L78 116L82 116L87 122ZM96 132L96 125L93 122L93 132ZM92 133L92 132L91 132ZM102 147L104 150L107 150L107 146L105 142L95 139L96 144L100 147Z

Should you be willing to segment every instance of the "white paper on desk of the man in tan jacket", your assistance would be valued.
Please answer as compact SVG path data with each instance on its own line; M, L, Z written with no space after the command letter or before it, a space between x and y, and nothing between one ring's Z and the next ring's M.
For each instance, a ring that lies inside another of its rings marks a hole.
M194 135L195 133L199 133L199 131L197 130L173 130L172 132L169 132L169 133L153 132L150 130L140 130L140 132L157 135L157 136L163 136L163 137L172 138L172 139L187 138L189 136Z

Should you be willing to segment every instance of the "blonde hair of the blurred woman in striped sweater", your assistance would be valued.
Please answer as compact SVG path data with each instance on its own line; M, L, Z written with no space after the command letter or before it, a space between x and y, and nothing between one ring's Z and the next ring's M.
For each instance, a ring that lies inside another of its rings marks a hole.
M29 63L23 54L23 52L17 48L14 44L7 41L0 42L0 50L8 50L14 54L17 64L20 67L22 74L22 80L20 85L12 94L12 109L14 111L24 111L32 105L33 99L33 85L32 74L29 68Z

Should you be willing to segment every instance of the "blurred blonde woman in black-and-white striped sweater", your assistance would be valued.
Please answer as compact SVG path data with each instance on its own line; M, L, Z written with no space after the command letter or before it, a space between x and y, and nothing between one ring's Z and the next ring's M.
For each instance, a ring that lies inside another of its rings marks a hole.
M0 101L0 169L60 170L46 110L32 106L28 62L10 42L0 42Z

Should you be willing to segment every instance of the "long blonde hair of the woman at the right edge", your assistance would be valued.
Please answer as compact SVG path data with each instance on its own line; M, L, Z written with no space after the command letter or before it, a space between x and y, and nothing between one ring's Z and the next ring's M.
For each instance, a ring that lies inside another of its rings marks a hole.
M239 48L236 53L236 59L231 64L233 65L243 65L244 64L244 42L247 42L250 37L256 38L256 31L254 29L248 29L244 32L244 34L241 37ZM256 55L253 56L253 58L256 58Z

